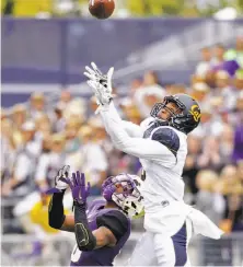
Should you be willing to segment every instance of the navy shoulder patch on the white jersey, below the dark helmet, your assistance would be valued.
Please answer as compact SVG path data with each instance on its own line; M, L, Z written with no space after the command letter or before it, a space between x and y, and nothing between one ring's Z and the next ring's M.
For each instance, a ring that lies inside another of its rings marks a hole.
M173 129L160 127L152 134L151 139L162 143L175 156L177 155L177 151L180 149L180 138Z

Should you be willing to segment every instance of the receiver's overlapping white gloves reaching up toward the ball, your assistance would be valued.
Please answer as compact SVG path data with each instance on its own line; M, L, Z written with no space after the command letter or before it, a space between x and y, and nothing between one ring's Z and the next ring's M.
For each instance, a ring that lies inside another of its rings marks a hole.
M88 72L83 73L90 79L86 83L93 90L97 104L102 106L108 105L114 96L112 94L112 77L114 68L109 68L107 74L103 74L94 62L91 63L91 67L93 69L86 66L85 70Z

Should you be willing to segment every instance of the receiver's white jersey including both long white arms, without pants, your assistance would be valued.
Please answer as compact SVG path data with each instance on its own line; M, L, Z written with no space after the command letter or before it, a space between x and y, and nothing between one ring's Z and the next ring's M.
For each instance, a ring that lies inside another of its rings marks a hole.
M146 171L142 186L146 212L166 200L183 200L182 172L187 154L187 136L148 118L141 126L119 118L113 104L101 112L115 147L138 156Z

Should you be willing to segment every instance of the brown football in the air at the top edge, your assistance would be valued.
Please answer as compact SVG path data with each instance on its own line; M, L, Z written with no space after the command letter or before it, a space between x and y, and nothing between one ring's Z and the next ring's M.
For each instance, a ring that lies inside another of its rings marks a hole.
M90 0L90 13L99 20L108 19L115 9L114 0Z

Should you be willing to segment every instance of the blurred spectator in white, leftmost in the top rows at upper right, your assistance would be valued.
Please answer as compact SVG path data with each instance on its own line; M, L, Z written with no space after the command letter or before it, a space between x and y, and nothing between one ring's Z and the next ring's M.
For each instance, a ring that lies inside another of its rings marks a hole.
M200 62L198 62L195 73L196 73L196 76L205 78L207 72L211 68L211 59L212 59L211 48L204 47L200 50L200 57L201 57L201 60L200 60Z

